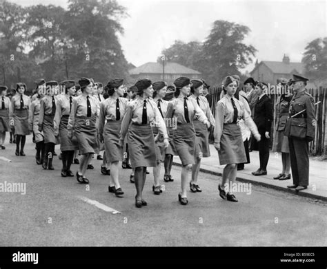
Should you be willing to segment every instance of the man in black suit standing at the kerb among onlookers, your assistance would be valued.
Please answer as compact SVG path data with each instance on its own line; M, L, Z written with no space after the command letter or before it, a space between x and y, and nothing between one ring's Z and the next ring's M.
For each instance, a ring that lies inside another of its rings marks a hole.
M257 171L252 172L252 175L267 175L267 164L269 160L269 140L270 129L274 119L273 102L266 94L268 85L266 83L257 83L255 86L259 93L259 98L255 104L255 124L261 135L259 141L259 159L260 167Z

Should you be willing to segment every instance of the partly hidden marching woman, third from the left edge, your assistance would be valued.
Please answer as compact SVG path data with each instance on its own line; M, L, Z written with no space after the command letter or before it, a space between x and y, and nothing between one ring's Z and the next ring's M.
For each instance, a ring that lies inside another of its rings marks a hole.
M39 83L37 84L38 84L37 96L36 98L34 98L34 101L32 101L32 104L30 105L30 115L28 117L28 123L30 125L30 131L33 131L35 134L35 142L36 142L36 149L37 149L35 160L37 164L43 164L46 148L44 145L43 133L39 131L39 115L40 115L40 107L41 107L40 100L44 97L45 94L46 81L44 80L39 81Z

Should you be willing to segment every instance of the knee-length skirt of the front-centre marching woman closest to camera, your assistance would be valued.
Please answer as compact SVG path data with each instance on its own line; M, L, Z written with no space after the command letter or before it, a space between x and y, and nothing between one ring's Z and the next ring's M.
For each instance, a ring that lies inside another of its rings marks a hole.
M150 125L135 125L133 123L130 125L128 129L128 151L132 168L157 166L155 138Z

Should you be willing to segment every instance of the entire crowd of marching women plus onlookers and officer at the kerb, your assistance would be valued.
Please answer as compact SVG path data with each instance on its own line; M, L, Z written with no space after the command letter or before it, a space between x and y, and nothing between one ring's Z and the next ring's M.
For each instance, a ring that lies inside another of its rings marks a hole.
M267 174L273 124L268 85L248 78L244 82L246 93L240 89L239 80L237 75L224 78L215 117L203 94L210 86L203 79L179 77L173 85L139 79L128 89L121 78L111 79L105 87L92 78L81 78L78 84L74 80L57 83L40 79L31 97L24 94L24 83L17 83L14 94L7 94L8 87L0 86L1 149L6 149L3 144L10 131L15 154L25 156L26 136L33 133L37 164L53 170L54 146L60 144L61 176L76 176L80 184L90 183L86 171L94 168L91 162L97 154L102 160L101 173L110 175L108 191L117 197L123 195L119 183L122 162L123 168L132 169L130 182L135 183L137 208L147 205L142 195L147 167L153 168L152 191L159 195L161 162L164 181L172 182L172 158L178 155L182 163L178 200L186 205L188 186L193 193L202 191L199 169L201 158L210 156L208 130L213 128L219 163L226 164L218 184L219 195L237 202L226 186L235 183L237 170L250 162L249 149L255 140L260 164L252 174ZM283 167L274 179L289 180L292 169L293 185L288 188L297 191L308 186L308 142L315 136L315 109L313 97L306 92L307 80L294 74L293 79L280 81L293 93L281 94L275 103L273 151L282 153ZM73 162L79 164L76 174L70 169Z

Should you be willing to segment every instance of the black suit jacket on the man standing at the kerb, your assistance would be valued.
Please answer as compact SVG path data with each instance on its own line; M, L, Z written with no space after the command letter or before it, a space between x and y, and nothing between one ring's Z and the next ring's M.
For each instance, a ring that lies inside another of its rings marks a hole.
M255 124L258 127L259 133L270 131L273 119L273 102L265 94L255 104Z

